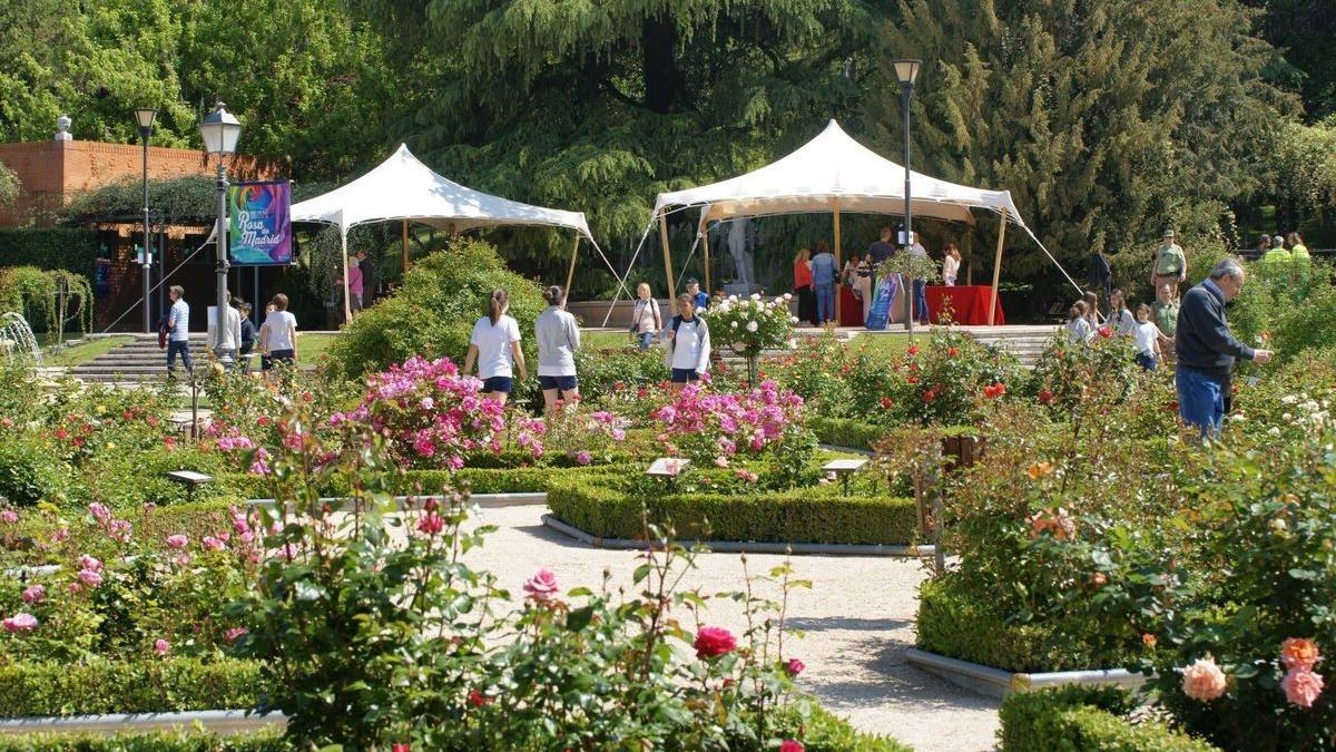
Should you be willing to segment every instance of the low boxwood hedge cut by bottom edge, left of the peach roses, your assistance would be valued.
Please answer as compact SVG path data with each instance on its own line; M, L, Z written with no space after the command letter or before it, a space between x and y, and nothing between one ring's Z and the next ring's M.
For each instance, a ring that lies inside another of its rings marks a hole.
M1132 724L1136 709L1121 688L1063 686L1015 693L1002 702L1002 749L1023 752L1218 752L1169 727Z

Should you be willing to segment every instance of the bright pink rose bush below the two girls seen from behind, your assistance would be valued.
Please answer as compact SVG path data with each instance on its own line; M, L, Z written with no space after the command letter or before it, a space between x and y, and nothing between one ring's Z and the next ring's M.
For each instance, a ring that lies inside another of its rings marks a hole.
M330 416L330 426L369 426L393 454L415 467L458 470L469 454L500 454L508 438L505 408L482 397L482 383L460 375L449 359L410 357L366 379L362 403ZM542 455L542 427L513 419L509 436L532 456Z

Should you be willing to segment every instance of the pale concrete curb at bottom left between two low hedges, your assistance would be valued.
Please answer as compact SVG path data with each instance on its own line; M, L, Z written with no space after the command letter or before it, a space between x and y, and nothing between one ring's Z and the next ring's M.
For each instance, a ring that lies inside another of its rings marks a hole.
M269 713L247 715L246 711L194 711L184 713L115 713L106 716L25 717L0 720L0 735L5 733L116 733L142 731L175 731L202 727L227 736L286 728L287 716Z

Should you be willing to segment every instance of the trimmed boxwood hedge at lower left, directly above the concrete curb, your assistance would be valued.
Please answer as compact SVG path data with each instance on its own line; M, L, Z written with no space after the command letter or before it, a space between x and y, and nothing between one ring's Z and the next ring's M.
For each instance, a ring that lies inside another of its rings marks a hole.
M262 688L255 661L15 662L0 665L0 717L253 708Z

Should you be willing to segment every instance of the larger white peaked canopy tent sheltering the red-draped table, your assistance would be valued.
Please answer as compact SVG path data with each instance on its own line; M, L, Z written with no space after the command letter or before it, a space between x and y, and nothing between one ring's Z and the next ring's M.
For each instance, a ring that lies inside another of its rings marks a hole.
M986 209L1001 215L1002 226L998 233L997 262L993 273L995 308L998 269L1002 261L1002 244L1006 237L1007 221L1018 225L1034 238L1034 233L1017 211L1011 193L961 186L910 171L910 195L915 217L933 217L973 225L975 217L971 210L974 209ZM704 252L705 286L709 289L709 241L704 233L707 222L736 217L828 211L834 214L834 250L836 261L840 261L840 211L903 214L904 167L858 143L839 127L839 123L831 120L820 135L783 159L759 170L707 186L659 194L651 226L657 219L664 248L664 266L668 273L669 298L676 292L676 285L668 249L667 217L669 211L691 206L701 206L697 238L701 241ZM1034 240L1038 244L1038 238ZM1042 244L1039 248L1043 248ZM1051 254L1049 257L1053 258ZM1063 274L1066 274L1065 270ZM1070 281L1071 277L1067 280ZM1075 285L1074 281L1071 284Z

